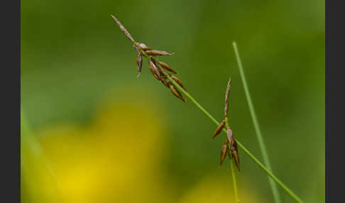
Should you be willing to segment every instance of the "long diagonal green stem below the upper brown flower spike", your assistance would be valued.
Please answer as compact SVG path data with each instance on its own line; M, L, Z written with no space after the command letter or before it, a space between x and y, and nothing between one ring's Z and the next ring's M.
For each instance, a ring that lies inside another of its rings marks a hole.
M197 108L199 108L207 117L209 117L209 119L211 119L211 121L213 121L214 122L214 124L216 124L217 126L219 125L219 122L216 120L216 119L214 119L214 117L211 115L211 114L209 114L209 112L208 111L206 111L205 109L204 109L204 107L202 107L188 92L186 92L185 91L185 89L183 89L182 87L180 87L180 85L179 84L177 84L177 82L175 82L169 75L165 75L169 80L170 80L170 82L172 82L172 84L174 84L175 85L175 87L178 89L178 90L180 90L180 92L182 92L183 94L185 94L186 95L186 97L188 97L188 99L190 99L190 101L192 101L194 104L195 104L195 106L197 106ZM225 133L225 135L226 135L226 129L225 128L223 128L223 132ZM270 172L270 170L268 170L268 168L266 168L265 167L265 165L263 165L253 154L251 154L250 152L249 152L249 150L247 150L240 142L239 142L239 140L237 140L236 139L236 141L237 141L237 145L243 150L243 152L244 153L246 153L248 156L249 156L249 158L251 158L251 160L253 160L267 175L269 175L270 177L272 177L272 179L273 180L275 180L275 182L277 182L278 183L278 185L280 186L280 187L282 187L283 188L283 190L286 192L286 193L288 193L289 195L290 195L290 197L292 197L292 199L294 199L295 200L295 202L300 202L300 203L302 203L303 201L302 201L302 199L300 199L300 197L297 197L297 195L294 193L294 192L292 192L288 187L286 187L284 184L283 184L283 182L281 182L279 179L278 179L278 177L276 177L275 175L273 175L273 173L272 172Z

